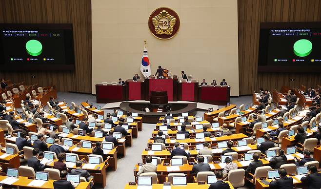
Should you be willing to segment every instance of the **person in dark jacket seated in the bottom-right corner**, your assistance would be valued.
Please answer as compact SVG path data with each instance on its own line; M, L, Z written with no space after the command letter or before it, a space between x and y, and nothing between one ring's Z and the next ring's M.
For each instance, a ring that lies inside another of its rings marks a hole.
M321 188L321 173L315 165L309 165L309 174L301 178L301 182L308 183L308 189L320 189Z

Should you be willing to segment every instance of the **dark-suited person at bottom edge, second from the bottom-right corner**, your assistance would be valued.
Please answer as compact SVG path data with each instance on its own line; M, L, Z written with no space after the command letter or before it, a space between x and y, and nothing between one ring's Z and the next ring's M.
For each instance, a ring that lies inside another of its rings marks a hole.
M274 178L274 180L270 182L270 187L273 189L293 189L293 178L286 176L286 170L280 168L278 172L281 178Z

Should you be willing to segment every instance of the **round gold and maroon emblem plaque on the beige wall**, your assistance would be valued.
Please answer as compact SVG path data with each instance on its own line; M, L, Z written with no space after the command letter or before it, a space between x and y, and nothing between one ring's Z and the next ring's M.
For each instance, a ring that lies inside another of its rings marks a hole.
M149 16L148 27L155 37L168 40L179 31L180 17L174 10L161 7Z

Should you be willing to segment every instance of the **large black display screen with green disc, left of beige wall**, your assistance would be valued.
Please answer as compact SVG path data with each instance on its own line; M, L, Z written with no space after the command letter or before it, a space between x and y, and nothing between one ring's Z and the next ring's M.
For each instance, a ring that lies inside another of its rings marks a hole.
M73 70L72 24L0 24L1 70Z

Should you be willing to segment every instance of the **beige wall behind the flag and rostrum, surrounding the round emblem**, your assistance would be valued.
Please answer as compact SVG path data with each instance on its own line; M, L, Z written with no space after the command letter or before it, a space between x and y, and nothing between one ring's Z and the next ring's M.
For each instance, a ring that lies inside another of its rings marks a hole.
M170 40L149 31L149 15L159 7L180 16L180 31ZM237 0L92 0L92 93L96 83L142 75L146 39L152 74L162 65L207 83L225 78L231 96L239 96L237 11Z

